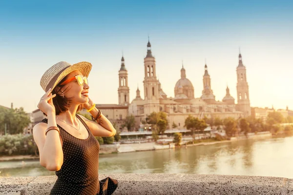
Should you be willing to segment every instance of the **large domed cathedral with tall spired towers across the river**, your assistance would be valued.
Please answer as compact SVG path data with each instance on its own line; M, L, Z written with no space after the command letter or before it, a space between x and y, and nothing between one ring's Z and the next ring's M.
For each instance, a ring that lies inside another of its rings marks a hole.
M251 116L249 100L249 86L246 79L246 68L242 63L242 56L239 54L239 64L236 69L237 74L237 104L230 95L229 88L226 89L226 96L222 101L216 101L212 91L208 66L205 65L203 75L203 91L200 98L194 97L194 88L187 78L186 70L182 65L181 78L174 87L174 98L167 98L161 83L156 77L156 60L151 53L151 44L147 43L147 53L144 60L144 97L140 96L140 90L136 90L136 98L129 101L128 73L125 66L124 57L121 60L119 70L119 105L128 107L127 114L133 115L136 125L139 125L146 116L152 112L165 112L169 121L169 127L173 122L179 128L183 128L185 119L191 115L193 117L248 117Z

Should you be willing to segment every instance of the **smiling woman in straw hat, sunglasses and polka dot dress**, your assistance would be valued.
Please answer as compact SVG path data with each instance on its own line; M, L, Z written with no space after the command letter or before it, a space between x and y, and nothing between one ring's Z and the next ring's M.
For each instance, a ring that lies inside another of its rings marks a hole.
M40 163L58 177L51 195L110 195L117 181L99 181L99 149L95 136L111 137L116 130L88 97L89 62L61 61L41 78L46 92L38 108L47 116L33 128ZM82 108L92 115L88 120L76 113Z

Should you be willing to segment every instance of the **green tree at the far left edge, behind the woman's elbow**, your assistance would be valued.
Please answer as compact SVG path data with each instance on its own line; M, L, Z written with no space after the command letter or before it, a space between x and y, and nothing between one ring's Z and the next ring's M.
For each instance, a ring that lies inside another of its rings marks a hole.
M5 124L7 133L23 133L23 129L30 123L30 118L23 108L5 109L0 108L0 132L4 134Z

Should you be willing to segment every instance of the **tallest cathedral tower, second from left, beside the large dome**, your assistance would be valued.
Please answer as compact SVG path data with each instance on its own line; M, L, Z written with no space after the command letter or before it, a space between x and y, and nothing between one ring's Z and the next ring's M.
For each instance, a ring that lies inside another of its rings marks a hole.
M144 90L145 90L145 114L152 112L159 112L159 81L156 77L156 60L151 53L151 45L148 40L147 42L147 53L145 58L145 79L144 79Z

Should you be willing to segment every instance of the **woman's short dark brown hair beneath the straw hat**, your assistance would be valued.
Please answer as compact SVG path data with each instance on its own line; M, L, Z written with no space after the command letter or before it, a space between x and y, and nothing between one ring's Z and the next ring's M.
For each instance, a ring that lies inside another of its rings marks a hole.
M56 97L53 98L53 104L55 106L56 115L59 115L60 113L66 112L68 108L70 107L70 103L74 97L66 98L65 96L61 96L60 94L63 94L64 92L68 91L68 87L66 87L64 90L62 90L62 85L66 80L67 76L64 77L52 90L52 95L56 94ZM84 108L83 105L79 105L77 108L77 112L81 111ZM44 114L44 113L43 113ZM46 114L44 114L46 116Z

